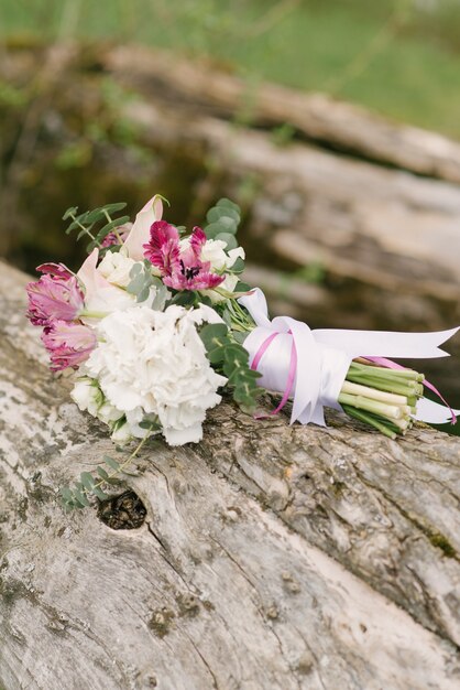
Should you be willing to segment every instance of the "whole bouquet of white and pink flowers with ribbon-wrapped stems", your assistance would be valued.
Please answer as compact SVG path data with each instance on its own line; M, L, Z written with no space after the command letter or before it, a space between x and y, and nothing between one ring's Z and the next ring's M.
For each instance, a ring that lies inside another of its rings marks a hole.
M424 386L438 391L423 374L387 357L446 356L438 346L457 328L311 331L289 317L270 321L261 290L240 280L237 204L220 200L205 227L188 233L162 219L163 201L150 200L134 224L119 216L124 204L69 208L67 234L89 240L88 258L77 273L42 265L26 288L28 316L43 328L51 368L75 371L75 402L107 424L118 450L138 440L124 462L105 456L105 466L63 488L67 508L106 498L107 485L152 435L169 445L199 442L222 390L250 414L265 388L282 395L265 417L292 398L292 423L324 425L327 406L392 439L414 419L447 421L447 403L424 398Z

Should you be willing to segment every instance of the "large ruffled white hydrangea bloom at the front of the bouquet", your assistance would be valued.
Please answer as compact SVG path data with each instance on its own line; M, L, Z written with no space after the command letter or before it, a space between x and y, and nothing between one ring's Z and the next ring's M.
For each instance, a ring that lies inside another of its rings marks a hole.
M145 435L139 423L150 414L157 416L171 445L201 439L206 410L220 402L217 389L227 379L211 368L196 325L220 321L206 305L172 305L113 312L98 324L99 344L84 369L127 416L131 435ZM125 436L127 429L119 433Z

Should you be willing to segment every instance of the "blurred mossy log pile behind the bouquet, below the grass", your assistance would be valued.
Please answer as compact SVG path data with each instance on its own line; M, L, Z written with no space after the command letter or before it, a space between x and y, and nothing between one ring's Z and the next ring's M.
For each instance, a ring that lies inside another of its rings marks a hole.
M0 106L0 223L2 254L24 268L81 258L61 239L70 204L121 197L134 212L160 191L173 220L196 223L227 194L244 207L250 262L318 283L329 308L308 304L314 325L459 321L459 144L319 96L248 93L206 65L132 46L18 48L0 76L23 98Z

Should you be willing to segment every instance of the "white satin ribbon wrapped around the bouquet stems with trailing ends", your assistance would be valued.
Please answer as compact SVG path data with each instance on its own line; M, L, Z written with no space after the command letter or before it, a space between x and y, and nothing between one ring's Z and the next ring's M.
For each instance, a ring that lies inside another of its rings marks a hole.
M434 333L311 331L306 323L289 316L271 321L265 295L259 288L239 302L256 324L244 341L251 367L262 375L258 381L261 386L284 393L277 409L293 396L291 423L298 420L303 424L314 422L325 427L324 408L341 410L338 398L352 359L448 357L439 345L459 331L459 327ZM423 398L417 402L415 419L441 424L454 420L454 412L460 413Z

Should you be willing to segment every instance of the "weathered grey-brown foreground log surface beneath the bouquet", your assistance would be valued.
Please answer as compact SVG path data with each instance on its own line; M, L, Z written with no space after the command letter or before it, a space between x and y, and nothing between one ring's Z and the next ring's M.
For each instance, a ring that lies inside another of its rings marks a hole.
M142 454L142 527L65 515L110 442L52 379L25 281L1 265L0 686L458 688L458 439L226 403L201 444Z

